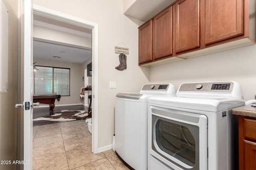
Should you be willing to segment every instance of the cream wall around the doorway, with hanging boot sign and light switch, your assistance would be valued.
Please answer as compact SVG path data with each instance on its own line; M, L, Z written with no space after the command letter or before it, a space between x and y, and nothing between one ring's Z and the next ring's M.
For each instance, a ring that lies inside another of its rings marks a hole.
M138 66L138 26L142 22L123 15L122 0L33 0L33 3L98 23L98 147L111 145L115 95L138 92L149 82L149 68ZM121 42L130 50L127 69L123 71L115 69L119 54L114 53L114 46ZM110 81L116 82L116 89L109 88Z

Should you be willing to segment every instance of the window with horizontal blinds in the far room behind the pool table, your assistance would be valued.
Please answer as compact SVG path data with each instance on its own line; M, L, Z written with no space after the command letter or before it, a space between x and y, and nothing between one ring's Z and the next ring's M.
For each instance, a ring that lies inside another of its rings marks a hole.
M70 96L70 68L36 66L34 94Z

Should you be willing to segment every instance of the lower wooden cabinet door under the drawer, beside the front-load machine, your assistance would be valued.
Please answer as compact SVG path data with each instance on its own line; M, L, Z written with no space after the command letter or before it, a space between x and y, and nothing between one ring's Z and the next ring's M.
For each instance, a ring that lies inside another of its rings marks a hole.
M244 140L244 170L256 170L256 143Z

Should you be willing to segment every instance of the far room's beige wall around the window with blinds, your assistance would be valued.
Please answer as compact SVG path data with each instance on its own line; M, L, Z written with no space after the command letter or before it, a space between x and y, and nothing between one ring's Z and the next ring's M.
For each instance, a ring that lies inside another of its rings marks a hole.
M82 71L82 64L38 60L38 59L34 59L33 62L37 62L36 65L39 65L39 66L54 66L54 67L70 68L70 96L61 96L60 101L57 101L57 100L55 101L55 106L83 103L83 101L80 100L81 88L84 87L84 82L82 81L82 77L84 75L84 72ZM40 105L43 105L43 104L40 104Z

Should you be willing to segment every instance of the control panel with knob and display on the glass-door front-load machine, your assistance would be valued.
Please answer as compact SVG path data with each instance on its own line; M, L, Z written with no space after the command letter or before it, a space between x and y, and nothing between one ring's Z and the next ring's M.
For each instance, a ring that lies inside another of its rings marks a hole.
M233 85L233 82L184 83L180 85L179 91L232 92Z

